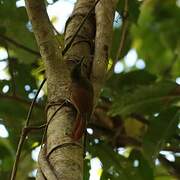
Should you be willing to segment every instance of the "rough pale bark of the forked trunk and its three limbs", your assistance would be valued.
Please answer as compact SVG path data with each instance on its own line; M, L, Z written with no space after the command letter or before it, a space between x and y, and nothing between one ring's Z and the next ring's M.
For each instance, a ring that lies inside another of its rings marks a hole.
M77 26L94 3L94 0L77 1L73 14L66 24L65 45L69 43ZM41 56L45 61L50 104L47 111L47 121L50 123L47 128L46 143L39 155L39 168L36 177L38 180L83 179L82 144L72 141L68 135L72 131L75 111L70 103L63 106L62 103L64 100L69 100L71 93L69 88L70 71L82 57L86 59L84 72L87 77L90 77L92 73L91 66L94 61L92 80L96 93L95 98L98 98L107 69L114 6L115 0L100 0L95 10L96 15L93 12L85 21L71 48L62 57L62 49L53 34L44 0L26 0L28 16L32 22ZM55 113L56 111L57 113ZM51 118L52 116L53 118Z

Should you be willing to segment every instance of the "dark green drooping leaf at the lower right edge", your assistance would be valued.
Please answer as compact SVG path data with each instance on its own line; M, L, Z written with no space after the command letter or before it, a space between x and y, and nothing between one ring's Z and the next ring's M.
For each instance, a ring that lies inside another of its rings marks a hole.
M167 140L175 135L180 110L177 107L166 108L157 117L154 117L143 140L143 153L152 162L164 147Z

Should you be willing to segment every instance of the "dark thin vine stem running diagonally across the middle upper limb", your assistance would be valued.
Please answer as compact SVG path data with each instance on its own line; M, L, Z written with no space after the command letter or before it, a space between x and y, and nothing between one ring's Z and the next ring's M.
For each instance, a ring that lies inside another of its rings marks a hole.
M83 20L81 21L81 23L79 24L77 30L75 31L74 35L72 36L70 42L65 46L64 50L62 51L62 55L64 55L67 50L71 47L74 39L76 38L77 34L79 33L79 31L81 30L82 26L84 25L85 21L89 18L89 16L91 15L92 11L94 10L94 8L96 7L97 3L100 0L97 0L94 5L92 6L92 8L89 10L89 12L87 13L87 15L83 18Z

